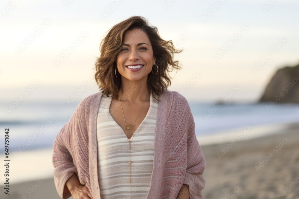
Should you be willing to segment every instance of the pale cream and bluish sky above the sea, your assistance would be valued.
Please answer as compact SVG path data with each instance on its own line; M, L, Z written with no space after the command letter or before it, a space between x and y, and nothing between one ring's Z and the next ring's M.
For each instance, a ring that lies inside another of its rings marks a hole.
M0 101L98 92L100 42L130 16L147 18L184 49L168 89L189 101L219 101L234 90L229 102L256 102L279 68L299 64L298 0L2 0L0 9Z

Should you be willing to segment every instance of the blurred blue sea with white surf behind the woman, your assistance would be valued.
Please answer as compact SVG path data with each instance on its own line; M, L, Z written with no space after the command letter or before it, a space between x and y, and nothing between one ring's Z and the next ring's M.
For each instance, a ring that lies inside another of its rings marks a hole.
M9 103L0 103L0 131L9 128L9 150L51 148L60 129L71 118L78 103L22 102L11 112ZM197 138L221 134L246 125L284 124L299 121L298 104L190 102ZM270 107L270 108L269 108ZM0 134L4 143L4 133ZM211 141L212 143L213 141ZM4 151L4 145L0 145Z

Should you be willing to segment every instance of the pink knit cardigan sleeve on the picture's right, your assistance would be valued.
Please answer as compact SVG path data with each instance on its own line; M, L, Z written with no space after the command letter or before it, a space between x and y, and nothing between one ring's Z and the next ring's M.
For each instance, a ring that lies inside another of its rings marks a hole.
M189 185L190 199L202 199L202 189L205 179L202 173L205 169L205 158L195 135L195 123L189 104L186 106L189 118L187 120L187 170L184 183Z

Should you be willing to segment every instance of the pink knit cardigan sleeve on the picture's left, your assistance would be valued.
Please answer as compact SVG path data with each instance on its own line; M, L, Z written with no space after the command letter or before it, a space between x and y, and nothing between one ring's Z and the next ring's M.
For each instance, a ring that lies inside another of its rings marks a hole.
M78 104L70 120L62 127L53 144L52 163L54 166L54 183L59 196L63 199L71 197L71 193L65 182L74 173L76 173L80 180L77 166L81 155L78 154L78 150L82 147L79 148L78 146L88 146L87 141L82 139L82 133L87 131L86 126L88 124L86 121L88 119L86 112L89 111L87 108L89 101L90 97L85 98ZM82 158L87 158L86 154L81 156ZM88 160L85 162L88 163Z

